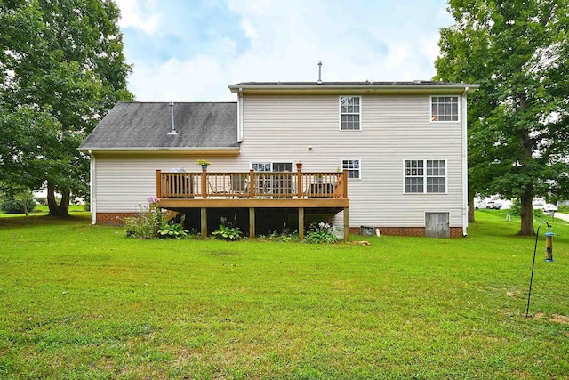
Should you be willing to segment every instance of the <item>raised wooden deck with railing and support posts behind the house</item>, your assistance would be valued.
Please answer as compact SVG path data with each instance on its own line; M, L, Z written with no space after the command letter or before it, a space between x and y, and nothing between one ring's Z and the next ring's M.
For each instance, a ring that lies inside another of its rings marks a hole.
M207 235L210 208L248 208L249 235L255 236L255 210L296 209L299 226L304 214L344 212L344 239L348 239L348 171L304 173L201 173L156 171L158 206L179 212L201 209L201 231ZM299 228L303 239L303 229Z

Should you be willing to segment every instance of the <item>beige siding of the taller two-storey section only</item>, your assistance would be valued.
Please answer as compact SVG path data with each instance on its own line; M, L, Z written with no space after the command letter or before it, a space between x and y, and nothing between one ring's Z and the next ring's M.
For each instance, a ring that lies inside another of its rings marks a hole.
M431 123L429 95L362 96L361 108L361 131L340 131L337 95L245 96L241 158L301 159L303 171L335 170L342 158L358 158L361 179L349 180L350 225L424 227L426 212L448 212L451 227L461 227L461 120ZM405 159L445 159L447 193L404 194Z

